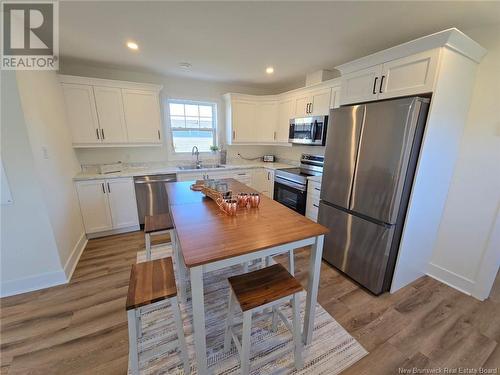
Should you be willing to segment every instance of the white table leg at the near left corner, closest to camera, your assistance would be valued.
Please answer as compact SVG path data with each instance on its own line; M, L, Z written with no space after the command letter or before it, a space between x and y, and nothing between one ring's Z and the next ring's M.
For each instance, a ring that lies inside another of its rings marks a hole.
M205 334L205 301L203 296L203 267L191 268L191 298L193 303L194 348L198 374L208 374Z

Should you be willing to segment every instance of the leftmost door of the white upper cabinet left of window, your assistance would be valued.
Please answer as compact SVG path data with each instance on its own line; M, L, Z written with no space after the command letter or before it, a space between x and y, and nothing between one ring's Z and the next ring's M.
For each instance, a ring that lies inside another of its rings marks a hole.
M64 101L73 143L101 141L92 86L63 84Z

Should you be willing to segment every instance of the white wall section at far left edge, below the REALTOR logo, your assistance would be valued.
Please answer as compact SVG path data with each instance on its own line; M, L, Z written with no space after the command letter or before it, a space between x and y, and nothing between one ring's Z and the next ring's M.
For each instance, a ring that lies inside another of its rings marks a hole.
M40 188L24 120L16 76L1 72L1 155L11 205L1 210L1 295L66 281Z

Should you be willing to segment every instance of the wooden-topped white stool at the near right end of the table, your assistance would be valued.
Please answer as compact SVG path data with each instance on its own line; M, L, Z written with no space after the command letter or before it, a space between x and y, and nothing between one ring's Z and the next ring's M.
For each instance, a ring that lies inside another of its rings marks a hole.
M295 367L302 368L302 341L300 334L300 315L298 292L302 285L281 265L275 264L244 275L228 279L231 286L229 292L229 308L224 335L224 351L231 348L234 341L241 359L241 373L248 374L250 370L250 336L252 329L252 314L268 307L273 309L273 330L276 330L278 317L292 332L295 344ZM278 309L280 304L292 302L292 325ZM243 312L243 329L241 342L233 332L233 315L235 302L238 302Z

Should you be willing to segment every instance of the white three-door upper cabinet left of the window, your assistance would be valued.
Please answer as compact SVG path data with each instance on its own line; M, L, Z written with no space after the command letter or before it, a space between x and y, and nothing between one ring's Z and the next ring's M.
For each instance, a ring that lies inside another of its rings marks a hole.
M60 75L73 147L161 144L161 86Z

